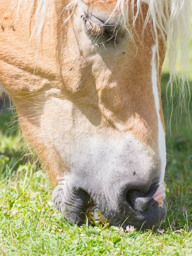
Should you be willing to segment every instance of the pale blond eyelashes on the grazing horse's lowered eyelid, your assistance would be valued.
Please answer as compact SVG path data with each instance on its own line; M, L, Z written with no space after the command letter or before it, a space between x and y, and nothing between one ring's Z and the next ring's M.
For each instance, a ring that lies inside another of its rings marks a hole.
M94 17L94 20L96 21L90 19L88 15L81 15L81 18L83 19L87 30L90 31L92 34L103 35L106 32L105 24L96 17Z

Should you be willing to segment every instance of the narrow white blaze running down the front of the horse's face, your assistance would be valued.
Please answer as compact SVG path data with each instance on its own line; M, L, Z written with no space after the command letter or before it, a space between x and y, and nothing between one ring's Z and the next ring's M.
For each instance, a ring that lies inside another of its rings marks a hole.
M159 100L159 90L157 84L157 68L156 68L156 46L152 48L152 60L151 60L151 79L153 86L154 102L157 110L158 118L158 144L159 144L159 156L161 160L161 180L160 183L164 180L165 167L166 167L166 143L165 143L165 132L163 130L163 125L160 117L160 100Z

